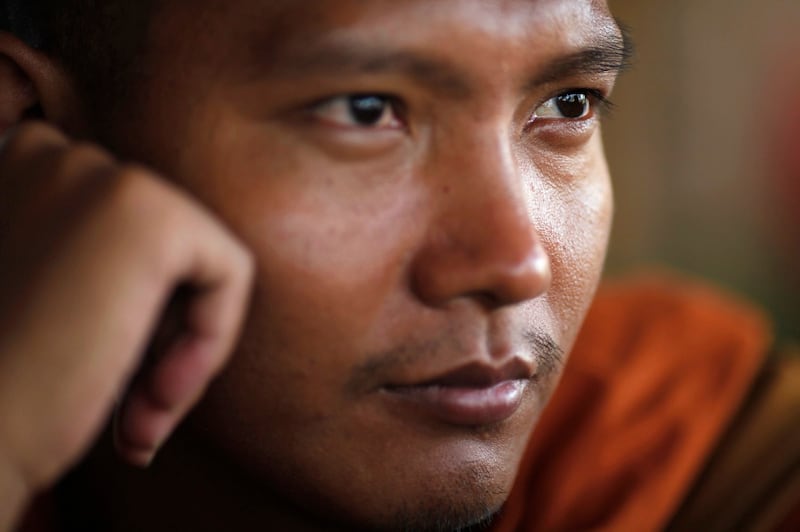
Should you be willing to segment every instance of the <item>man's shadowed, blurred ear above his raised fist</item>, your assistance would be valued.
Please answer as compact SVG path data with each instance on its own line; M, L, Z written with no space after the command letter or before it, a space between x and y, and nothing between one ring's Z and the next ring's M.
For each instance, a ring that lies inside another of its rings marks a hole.
M0 31L0 135L26 118L86 131L76 85L55 59Z

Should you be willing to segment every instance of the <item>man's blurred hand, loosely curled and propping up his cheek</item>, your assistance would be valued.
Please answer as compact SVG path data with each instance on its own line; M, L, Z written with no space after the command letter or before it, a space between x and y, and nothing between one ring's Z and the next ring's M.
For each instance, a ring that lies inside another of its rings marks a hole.
M119 452L149 463L229 356L251 277L248 252L151 172L43 124L6 141L0 529L80 458L115 403ZM176 292L178 326L153 342Z

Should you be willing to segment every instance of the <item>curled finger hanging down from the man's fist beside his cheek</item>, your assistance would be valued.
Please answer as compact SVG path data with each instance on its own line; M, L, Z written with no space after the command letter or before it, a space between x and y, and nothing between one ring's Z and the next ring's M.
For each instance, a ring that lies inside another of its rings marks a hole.
M181 276L192 289L186 316L137 376L115 420L115 444L146 466L230 356L244 315L252 261L224 238L198 242ZM227 249L226 249L227 248ZM182 305L184 306L184 305Z

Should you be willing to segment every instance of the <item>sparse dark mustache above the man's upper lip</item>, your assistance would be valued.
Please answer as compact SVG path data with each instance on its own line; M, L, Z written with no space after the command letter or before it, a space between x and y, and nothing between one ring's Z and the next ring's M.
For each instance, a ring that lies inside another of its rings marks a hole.
M543 332L526 331L524 345L534 356L537 369L534 378L547 381L561 371L565 353L555 339ZM441 353L468 353L470 345L464 335L445 333L433 339L403 342L388 350L369 356L352 374L348 389L359 392L385 383L386 379L402 374L407 368L425 367L441 358Z

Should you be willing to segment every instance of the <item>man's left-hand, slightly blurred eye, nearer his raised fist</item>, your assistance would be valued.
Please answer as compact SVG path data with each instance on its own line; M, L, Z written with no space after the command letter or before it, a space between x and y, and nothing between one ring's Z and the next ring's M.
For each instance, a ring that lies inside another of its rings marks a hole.
M403 127L399 102L380 94L337 96L317 104L313 116L348 128L397 129Z

